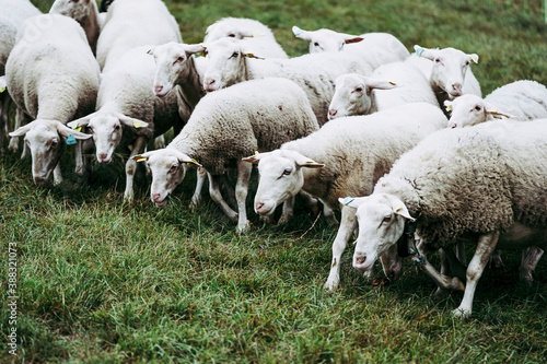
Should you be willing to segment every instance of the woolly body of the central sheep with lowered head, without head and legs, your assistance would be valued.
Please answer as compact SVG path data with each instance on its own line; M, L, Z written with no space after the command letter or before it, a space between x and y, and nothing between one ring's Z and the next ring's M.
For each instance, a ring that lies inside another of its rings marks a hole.
M295 83L254 80L207 94L167 148L220 175L244 156L271 151L318 128L305 93Z

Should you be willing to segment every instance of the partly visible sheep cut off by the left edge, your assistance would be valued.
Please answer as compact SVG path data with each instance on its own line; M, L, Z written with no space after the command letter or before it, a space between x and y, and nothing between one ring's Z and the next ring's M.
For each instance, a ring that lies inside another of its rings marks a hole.
M19 27L25 19L39 15L42 12L28 0L0 0L0 9L2 9L2 14L0 15L0 77L3 77L5 74L5 62L15 45ZM0 152L3 151L3 127L5 126L7 129L11 129L9 120L10 105L11 97L4 89L0 92ZM24 111L18 108L15 128L21 127L23 119ZM12 138L8 149L16 151L19 149L19 138Z

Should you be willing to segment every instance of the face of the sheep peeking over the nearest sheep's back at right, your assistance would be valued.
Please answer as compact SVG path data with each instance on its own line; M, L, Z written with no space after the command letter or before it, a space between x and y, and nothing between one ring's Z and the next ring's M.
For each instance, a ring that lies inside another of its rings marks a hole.
M446 103L445 103L446 104ZM449 128L463 128L485 122L492 107L476 95L462 95L451 104Z

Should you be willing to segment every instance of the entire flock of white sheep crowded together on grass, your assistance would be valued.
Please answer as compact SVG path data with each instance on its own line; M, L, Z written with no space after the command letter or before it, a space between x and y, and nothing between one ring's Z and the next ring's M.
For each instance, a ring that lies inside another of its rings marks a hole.
M0 138L3 146L13 101L9 149L24 137L36 184L51 174L62 181L67 149L74 148L80 175L93 145L98 163L130 151L126 200L139 165L152 174L158 207L195 166L191 204L208 178L211 199L244 232L256 164L254 210L265 220L283 204L279 223L289 221L298 193L321 201L329 222L341 210L328 290L339 285L357 230L354 268L372 275L381 258L396 280L410 255L440 290L465 291L457 316L472 314L482 270L490 257L501 259L494 249L523 250L521 279L532 282L547 245L544 85L516 81L481 98L470 70L477 55L419 46L410 55L385 33L294 26L310 54L289 58L264 24L225 17L202 44L188 45L161 0L115 0L106 13L94 0L57 0L49 14L27 0L0 7L0 90L8 91ZM33 121L23 125L25 115ZM164 146L171 128L176 137ZM155 150L147 152L152 139ZM468 265L463 239L478 242ZM441 253L441 272L426 258L431 250Z

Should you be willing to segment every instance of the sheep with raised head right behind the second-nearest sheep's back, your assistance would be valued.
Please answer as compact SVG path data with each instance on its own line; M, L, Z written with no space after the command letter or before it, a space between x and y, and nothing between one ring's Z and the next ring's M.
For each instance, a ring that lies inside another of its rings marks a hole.
M335 94L328 107L329 120L372 114L406 103L426 102L439 107L429 81L407 62L381 66L371 77L341 74L335 84Z

